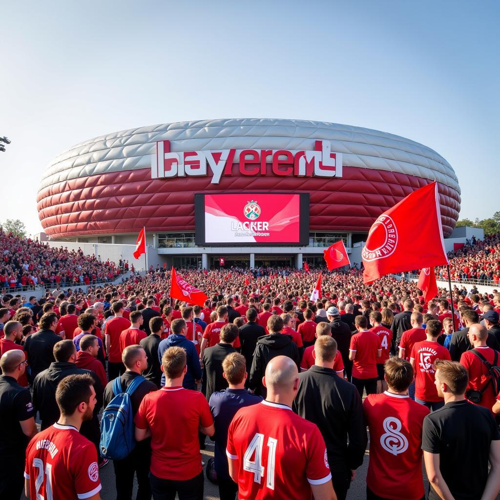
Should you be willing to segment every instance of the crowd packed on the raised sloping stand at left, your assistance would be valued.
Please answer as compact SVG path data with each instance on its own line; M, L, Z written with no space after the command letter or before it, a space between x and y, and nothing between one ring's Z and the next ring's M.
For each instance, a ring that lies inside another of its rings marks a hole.
M112 281L128 272L128 261L100 261L81 248L53 247L0 228L0 290L33 289L36 285L76 286Z

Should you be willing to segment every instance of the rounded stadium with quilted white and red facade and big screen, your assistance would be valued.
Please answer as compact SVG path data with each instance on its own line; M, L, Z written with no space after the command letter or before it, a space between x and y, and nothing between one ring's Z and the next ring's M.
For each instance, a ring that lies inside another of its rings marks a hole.
M376 217L433 180L450 236L460 188L431 148L337 123L217 119L76 144L45 170L37 208L51 240L126 245L145 227L167 265L300 268L339 239L360 262Z

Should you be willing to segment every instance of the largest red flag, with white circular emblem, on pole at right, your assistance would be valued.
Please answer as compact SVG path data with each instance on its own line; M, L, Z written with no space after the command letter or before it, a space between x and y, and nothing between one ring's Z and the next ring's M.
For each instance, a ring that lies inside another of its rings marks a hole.
M361 251L365 284L391 272L448 264L442 237L437 182L431 182L383 212Z

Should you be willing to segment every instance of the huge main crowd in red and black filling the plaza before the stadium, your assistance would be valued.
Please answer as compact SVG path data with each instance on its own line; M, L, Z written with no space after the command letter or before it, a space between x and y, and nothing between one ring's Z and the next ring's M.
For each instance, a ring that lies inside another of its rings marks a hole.
M204 304L170 298L164 268L3 295L0 498L97 500L112 461L118 500L134 479L141 500L201 499L210 444L221 500L342 500L363 460L368 499L496 498L496 290L426 302L352 269L311 301L319 271L177 274Z

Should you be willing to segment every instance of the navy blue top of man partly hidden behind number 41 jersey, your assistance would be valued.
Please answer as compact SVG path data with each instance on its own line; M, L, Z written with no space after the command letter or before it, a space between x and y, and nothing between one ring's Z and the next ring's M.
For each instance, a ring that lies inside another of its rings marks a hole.
M217 476L229 479L227 465L227 431L232 417L239 408L257 404L262 400L260 396L250 394L246 389L224 389L213 392L208 401L210 411L213 416L215 434L212 439L215 441L214 465Z

